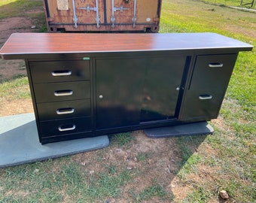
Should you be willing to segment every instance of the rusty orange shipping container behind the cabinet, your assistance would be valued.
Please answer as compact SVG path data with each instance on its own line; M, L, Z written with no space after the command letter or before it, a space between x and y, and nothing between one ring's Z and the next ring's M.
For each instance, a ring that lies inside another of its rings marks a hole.
M44 0L49 32L158 32L162 0Z

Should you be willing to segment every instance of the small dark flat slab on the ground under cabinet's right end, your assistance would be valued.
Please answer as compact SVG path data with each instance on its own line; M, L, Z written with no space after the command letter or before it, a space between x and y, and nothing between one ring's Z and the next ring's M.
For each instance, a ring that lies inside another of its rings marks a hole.
M149 138L169 138L190 135L212 135L214 129L209 125L209 123L203 121L179 126L145 129L144 132Z

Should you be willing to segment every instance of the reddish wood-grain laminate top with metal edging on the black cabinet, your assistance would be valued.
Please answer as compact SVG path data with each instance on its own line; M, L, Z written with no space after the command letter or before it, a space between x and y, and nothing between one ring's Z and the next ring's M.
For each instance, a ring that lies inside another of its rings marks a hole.
M109 53L152 50L237 49L250 44L215 33L85 34L14 33L0 50L2 59L56 53Z

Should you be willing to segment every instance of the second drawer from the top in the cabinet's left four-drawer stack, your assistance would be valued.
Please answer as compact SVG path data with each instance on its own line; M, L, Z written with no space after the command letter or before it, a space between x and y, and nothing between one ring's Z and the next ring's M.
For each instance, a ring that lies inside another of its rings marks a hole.
M90 81L38 83L34 91L37 103L90 98Z

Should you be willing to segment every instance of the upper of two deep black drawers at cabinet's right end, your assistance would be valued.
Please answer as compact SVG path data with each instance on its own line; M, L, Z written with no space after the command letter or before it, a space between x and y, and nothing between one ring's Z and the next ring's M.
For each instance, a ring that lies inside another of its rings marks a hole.
M206 90L227 88L236 54L197 56L193 76L190 80L190 90Z

